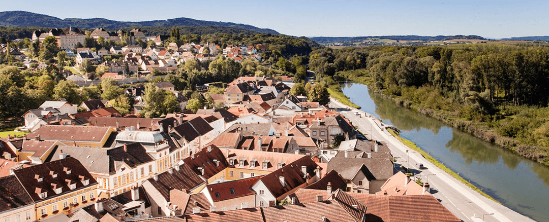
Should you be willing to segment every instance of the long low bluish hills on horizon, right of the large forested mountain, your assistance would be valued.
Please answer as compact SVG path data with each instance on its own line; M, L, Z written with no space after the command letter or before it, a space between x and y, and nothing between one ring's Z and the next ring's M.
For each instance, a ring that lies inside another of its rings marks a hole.
M389 39L389 40L399 40L399 41L412 41L412 40L418 40L418 41L441 41L441 40L449 40L449 39L481 39L485 40L485 38L481 36L360 36L360 37L310 37L312 40L315 40L317 43L320 44L327 44L327 43L343 43L343 42L360 42L366 39Z

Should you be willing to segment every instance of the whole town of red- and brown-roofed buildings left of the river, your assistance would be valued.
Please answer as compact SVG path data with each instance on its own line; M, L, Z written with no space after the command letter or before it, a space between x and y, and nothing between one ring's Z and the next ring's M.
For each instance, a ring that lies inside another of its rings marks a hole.
M16 67L66 79L39 77L52 99L21 116L28 134L0 138L3 221L462 221L326 87L260 67L268 44L170 38L69 27L2 45ZM250 70L176 78L204 64Z

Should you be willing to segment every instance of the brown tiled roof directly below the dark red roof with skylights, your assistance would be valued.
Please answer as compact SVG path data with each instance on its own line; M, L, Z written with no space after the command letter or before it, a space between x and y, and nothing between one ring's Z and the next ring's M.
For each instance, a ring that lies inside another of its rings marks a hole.
M172 174L170 174L170 172L158 174L158 181L155 181L153 178L148 179L148 182L150 182L168 202L170 201L171 189L192 190L204 183L204 180L186 164L180 165L179 168L179 171L173 170Z

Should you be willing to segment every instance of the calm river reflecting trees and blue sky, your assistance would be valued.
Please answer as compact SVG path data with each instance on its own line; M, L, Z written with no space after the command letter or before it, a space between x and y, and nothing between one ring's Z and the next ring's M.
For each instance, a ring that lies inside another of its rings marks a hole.
M416 143L506 207L537 221L549 221L548 167L398 107L365 85L344 83L342 90L363 111L399 128L402 138Z

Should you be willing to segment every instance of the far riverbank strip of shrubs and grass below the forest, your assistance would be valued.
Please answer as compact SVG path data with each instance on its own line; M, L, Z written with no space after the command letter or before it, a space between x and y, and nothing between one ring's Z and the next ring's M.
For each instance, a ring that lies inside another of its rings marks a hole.
M338 73L340 78L349 81L367 85L372 88L374 83L371 77L363 75L365 71L351 71ZM360 75L359 75L360 74ZM512 151L512 153L526 157L541 163L544 166L549 166L549 149L535 144L526 144L518 141L516 138L500 135L496 128L487 126L486 123L467 120L456 116L455 113L446 112L440 109L430 109L416 104L411 100L406 100L402 96L386 95L383 90L375 90L374 93L393 101L397 106L414 110L415 112L429 116L430 118L444 122L449 126L457 128L463 132L467 132L474 137L480 138L483 141L496 144L499 147Z

